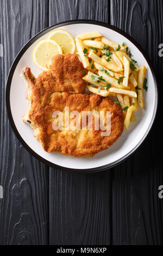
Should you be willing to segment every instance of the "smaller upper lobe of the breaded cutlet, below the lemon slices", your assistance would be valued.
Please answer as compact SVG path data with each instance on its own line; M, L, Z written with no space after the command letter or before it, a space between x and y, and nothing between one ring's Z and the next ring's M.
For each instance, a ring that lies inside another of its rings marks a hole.
M75 54L57 54L52 58L50 71L43 71L36 78L37 86L53 87L55 92L84 93L86 83L82 79L86 70ZM83 74L82 74L83 73Z

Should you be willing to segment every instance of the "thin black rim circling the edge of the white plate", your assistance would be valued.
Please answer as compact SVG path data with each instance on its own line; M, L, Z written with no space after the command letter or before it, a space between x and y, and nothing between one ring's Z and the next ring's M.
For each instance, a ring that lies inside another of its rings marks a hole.
M102 27L110 28L113 31L116 31L116 32L120 33L121 35L125 36L128 40L130 40L139 49L139 51L143 54L143 57L145 57L145 59L147 60L148 65L149 65L149 67L150 67L150 69L152 71L152 75L153 75L153 78L154 78L154 84L155 84L155 106L154 106L153 117L152 117L151 123L150 123L150 125L149 125L149 127L148 127L148 129L147 129L147 131L145 133L145 135L141 139L141 141L135 146L135 148L133 148L130 151L130 153L128 153L125 156L121 157L121 159L118 159L117 161L112 162L110 164L105 164L104 166L95 167L95 168L89 168L89 169L73 169L73 168L66 168L66 167L58 166L57 164L49 162L48 160L44 159L43 157L41 157L40 155L35 153L35 151L32 150L26 142L24 142L24 140L21 137L20 133L17 131L16 125L14 123L14 119L12 118L11 107L10 107L10 87L11 87L12 76L14 75L14 71L16 69L16 66L17 66L19 60L21 59L21 57L23 56L24 52L26 52L27 49L29 48L29 46L32 45L37 39L39 39L42 35L50 32L52 29L59 28L61 26L72 25L72 24L80 24L80 23L88 23L88 24L99 25L99 26L102 26ZM6 87L6 94L5 94L5 96L6 96L6 105L7 105L8 117L9 117L9 121L10 121L12 130L14 131L16 137L21 142L23 147L26 148L29 151L30 154L32 154L34 157L36 157L36 159L40 160L43 163L48 164L48 166L51 166L51 167L53 167L55 169L64 170L66 172L68 171L68 172L76 172L76 173L77 172L78 173L101 172L102 170L106 170L106 169L109 169L111 167L116 166L117 164L121 163L122 161L126 160L129 156L131 156L131 154L133 154L135 152L135 150L137 150L140 147L142 142L145 141L145 138L147 137L147 135L148 135L149 131L151 130L152 125L154 123L154 119L155 119L156 111L157 111L157 107L158 107L158 88L157 88L155 72L154 72L153 66L151 64L151 60L149 60L149 58L147 56L147 53L142 49L142 47L133 38L131 38L130 35L128 35L127 33L123 32L121 29L118 29L118 28L116 28L114 26L108 25L107 23L104 23L104 22L92 21L92 20L72 20L72 21L61 22L61 23L58 23L57 25L53 25L51 27L48 27L48 28L44 29L43 31L41 31L38 34L36 34L32 39L30 39L27 42L27 44L24 45L22 50L17 54L14 62L12 63L12 66L11 66L10 71L9 71L8 79L7 79L7 87Z

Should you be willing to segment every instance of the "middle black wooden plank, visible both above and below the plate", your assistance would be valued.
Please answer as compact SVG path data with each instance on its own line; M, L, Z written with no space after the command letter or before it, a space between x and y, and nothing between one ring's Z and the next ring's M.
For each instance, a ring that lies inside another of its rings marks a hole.
M49 1L49 25L90 19L108 22L108 1ZM49 170L49 243L109 245L110 172L64 173Z

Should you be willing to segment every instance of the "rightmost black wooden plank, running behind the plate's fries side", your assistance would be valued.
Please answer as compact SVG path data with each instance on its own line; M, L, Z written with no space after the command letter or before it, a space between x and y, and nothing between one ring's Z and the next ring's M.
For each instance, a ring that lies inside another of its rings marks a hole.
M133 36L152 59L161 78L163 58L162 1L111 0L111 24ZM160 80L161 82L161 80ZM162 85L159 84L160 92ZM162 180L162 102L148 139L127 161L112 170L112 242L114 245L160 245L163 205L158 198Z

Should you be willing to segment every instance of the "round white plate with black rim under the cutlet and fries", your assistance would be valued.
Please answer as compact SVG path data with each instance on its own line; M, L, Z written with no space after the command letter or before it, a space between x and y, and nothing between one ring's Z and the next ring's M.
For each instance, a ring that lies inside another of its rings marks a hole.
M26 112L28 101L26 100L26 86L20 77L21 70L24 66L29 66L35 76L40 74L41 70L33 63L33 48L37 41L45 38L49 32L56 28L65 29L74 38L84 32L99 31L103 36L117 44L125 42L133 54L133 58L137 60L138 65L147 67L148 92L145 92L146 108L144 110L139 108L139 111L134 113L136 123L131 123L129 130L124 130L114 145L93 157L77 158L59 153L46 153L33 136L33 130L22 122L22 115ZM53 167L56 167L57 164L58 167L62 167L64 170L74 169L80 172L97 172L120 163L140 146L153 124L158 103L158 92L154 72L146 53L129 35L102 22L83 20L64 22L47 28L34 36L22 48L12 64L8 76L6 99L12 129L24 147L37 159Z

